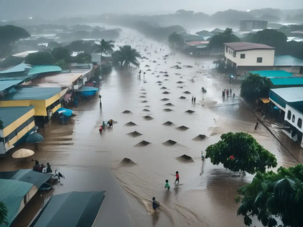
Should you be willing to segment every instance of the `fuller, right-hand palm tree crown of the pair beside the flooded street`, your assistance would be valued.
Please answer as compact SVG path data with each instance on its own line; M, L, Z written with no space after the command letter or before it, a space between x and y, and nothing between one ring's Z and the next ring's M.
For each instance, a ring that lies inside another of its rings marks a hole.
M130 64L139 66L140 63L138 62L137 58L142 58L141 54L129 45L119 47L119 50L113 52L112 54L113 65L119 65L121 69L126 65L130 67Z

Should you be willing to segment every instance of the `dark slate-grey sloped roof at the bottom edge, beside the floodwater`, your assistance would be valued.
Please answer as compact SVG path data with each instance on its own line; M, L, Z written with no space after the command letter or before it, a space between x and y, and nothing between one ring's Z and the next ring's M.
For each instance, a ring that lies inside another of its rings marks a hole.
M68 192L52 196L30 227L91 227L104 193Z

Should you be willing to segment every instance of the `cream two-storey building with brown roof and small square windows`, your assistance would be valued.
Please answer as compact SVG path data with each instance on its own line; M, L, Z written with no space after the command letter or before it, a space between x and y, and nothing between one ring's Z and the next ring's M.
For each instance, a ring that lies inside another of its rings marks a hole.
M265 44L225 43L225 64L233 67L237 75L244 71L272 70L274 59L275 48Z

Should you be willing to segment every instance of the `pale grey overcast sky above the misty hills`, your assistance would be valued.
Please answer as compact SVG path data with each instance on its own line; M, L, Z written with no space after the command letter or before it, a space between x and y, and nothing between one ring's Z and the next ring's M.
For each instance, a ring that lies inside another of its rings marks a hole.
M178 9L213 14L255 8L299 9L303 0L0 0L0 19L88 16L102 13L166 13Z

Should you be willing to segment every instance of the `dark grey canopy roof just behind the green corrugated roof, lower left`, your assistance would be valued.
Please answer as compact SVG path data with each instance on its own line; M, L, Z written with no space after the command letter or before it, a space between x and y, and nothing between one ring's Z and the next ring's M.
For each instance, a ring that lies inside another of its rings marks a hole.
M1 108L1 107L0 107ZM38 173L32 169L19 169L15 171L0 172L0 179L12 179L31 183L37 188L40 188L48 179L52 177L51 174Z

